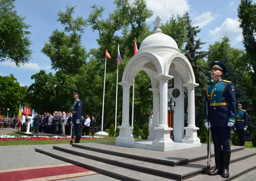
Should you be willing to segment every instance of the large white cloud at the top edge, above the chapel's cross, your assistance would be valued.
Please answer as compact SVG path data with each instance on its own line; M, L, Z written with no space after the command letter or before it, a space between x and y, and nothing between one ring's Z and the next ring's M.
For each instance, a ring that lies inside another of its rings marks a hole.
M154 15L148 19L152 21L156 16L161 16L163 22L167 21L172 14L183 15L189 11L190 5L187 0L146 0L147 6L154 11Z

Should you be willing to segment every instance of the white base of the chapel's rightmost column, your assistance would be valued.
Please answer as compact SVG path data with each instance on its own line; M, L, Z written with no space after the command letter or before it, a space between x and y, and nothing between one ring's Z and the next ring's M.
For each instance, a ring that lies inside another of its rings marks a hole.
M197 137L198 127L184 127L186 130L186 136L182 139L183 143L201 143Z

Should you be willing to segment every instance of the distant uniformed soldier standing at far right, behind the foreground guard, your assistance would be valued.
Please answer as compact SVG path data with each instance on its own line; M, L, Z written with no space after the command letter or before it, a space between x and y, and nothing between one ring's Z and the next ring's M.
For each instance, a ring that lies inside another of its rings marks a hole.
M239 146L244 146L245 136L244 132L247 130L247 112L242 109L243 104L241 102L237 103L237 111L235 117L235 130L238 132L239 136Z

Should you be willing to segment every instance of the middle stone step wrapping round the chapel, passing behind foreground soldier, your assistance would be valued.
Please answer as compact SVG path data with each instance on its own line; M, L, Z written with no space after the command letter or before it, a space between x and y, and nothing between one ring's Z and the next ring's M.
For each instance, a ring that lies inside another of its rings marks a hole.
M126 169L131 169L135 171L140 171L146 174L152 174L155 176L161 176L164 178L183 180L185 178L190 178L192 176L204 173L206 169L207 160L199 160L197 162L181 165L178 167L170 167L166 165L144 162L137 159L130 159L119 157L116 155L109 155L99 152L94 152L90 150L84 150L76 147L71 147L70 145L63 146L53 146L55 150L63 151L69 154L78 155L81 157L86 157L88 159L96 160L99 162L104 162L107 164L123 167ZM256 155L256 150L254 149L244 149L239 152L234 152L231 154L231 163L238 162L248 157ZM215 166L214 158L211 159L212 168Z

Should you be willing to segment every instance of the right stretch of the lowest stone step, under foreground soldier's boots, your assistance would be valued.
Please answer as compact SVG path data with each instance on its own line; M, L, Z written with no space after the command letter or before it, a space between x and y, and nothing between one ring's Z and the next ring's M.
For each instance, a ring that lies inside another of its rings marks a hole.
M228 179L222 178L220 175L209 176L206 174L201 174L198 176L194 176L186 181L231 181L236 179L251 170L256 169L256 156L241 160L239 162L235 162L229 167L230 177ZM256 179L254 179L256 180Z

